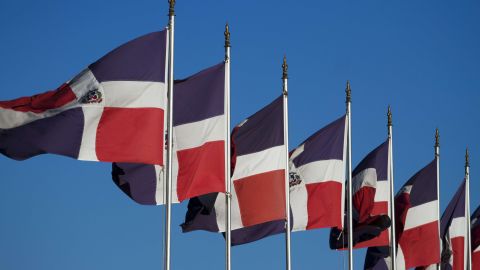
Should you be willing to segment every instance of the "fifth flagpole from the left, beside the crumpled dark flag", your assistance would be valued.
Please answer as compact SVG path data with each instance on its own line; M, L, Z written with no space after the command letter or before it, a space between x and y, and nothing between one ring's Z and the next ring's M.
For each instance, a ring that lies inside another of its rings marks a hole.
M390 177L390 219L392 225L390 226L390 258L392 270L397 269L397 241L395 235L395 190L393 185L393 124L392 124L392 110L388 106L388 177Z

